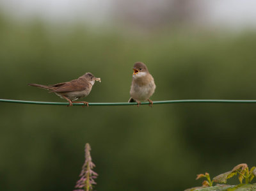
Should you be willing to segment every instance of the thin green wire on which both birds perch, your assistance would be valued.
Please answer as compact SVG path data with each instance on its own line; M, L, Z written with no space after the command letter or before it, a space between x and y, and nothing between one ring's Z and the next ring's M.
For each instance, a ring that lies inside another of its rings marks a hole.
M39 104L39 105L69 105L66 102L34 102L24 100L4 100L0 99L0 102L7 103L26 103L26 104ZM166 103L256 103L256 100L166 100L155 101L155 104ZM141 105L148 105L149 102L141 102ZM84 105L84 103L73 103L73 105ZM89 105L138 105L138 103L118 102L118 103L89 103Z

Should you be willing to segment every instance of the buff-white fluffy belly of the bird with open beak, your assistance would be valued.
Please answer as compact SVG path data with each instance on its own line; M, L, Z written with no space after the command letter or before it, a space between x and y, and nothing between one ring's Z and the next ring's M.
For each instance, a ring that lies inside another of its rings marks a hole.
M143 102L153 95L156 86L154 84L147 84L146 86L133 86L131 88L131 96L135 100Z

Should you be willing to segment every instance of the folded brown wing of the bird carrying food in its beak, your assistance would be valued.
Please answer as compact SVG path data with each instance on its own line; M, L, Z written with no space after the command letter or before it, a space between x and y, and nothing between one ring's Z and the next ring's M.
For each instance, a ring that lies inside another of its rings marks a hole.
M52 92L83 91L84 89L90 88L90 82L84 82L76 79L70 82L55 84L54 86L56 89Z

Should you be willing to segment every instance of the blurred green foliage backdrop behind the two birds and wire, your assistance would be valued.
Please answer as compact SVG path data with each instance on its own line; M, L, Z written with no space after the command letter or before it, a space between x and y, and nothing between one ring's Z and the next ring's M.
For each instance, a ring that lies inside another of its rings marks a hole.
M127 102L136 61L152 100L255 99L256 34L205 27L20 22L0 16L1 97L65 102L28 83L100 77L87 102ZM256 165L256 105L65 107L0 103L1 190L72 190L92 146L95 190L184 190L196 174ZM235 183L238 183L238 181Z

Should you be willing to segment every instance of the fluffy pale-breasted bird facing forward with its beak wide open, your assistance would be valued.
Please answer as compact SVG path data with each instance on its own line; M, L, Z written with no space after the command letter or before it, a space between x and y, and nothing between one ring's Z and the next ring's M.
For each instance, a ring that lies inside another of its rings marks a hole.
M152 107L153 102L149 98L156 89L154 78L148 72L147 66L142 62L136 62L133 66L133 71L130 90L131 98L128 102L137 102L139 107L141 102L148 100L149 105Z

